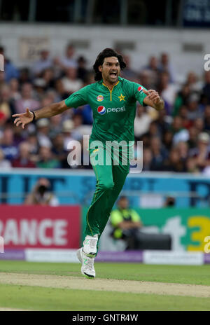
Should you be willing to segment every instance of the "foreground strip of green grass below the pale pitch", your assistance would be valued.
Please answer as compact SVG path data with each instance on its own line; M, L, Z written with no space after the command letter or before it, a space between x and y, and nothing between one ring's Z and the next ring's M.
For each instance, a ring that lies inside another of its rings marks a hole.
M209 298L0 285L0 306L26 310L210 310Z

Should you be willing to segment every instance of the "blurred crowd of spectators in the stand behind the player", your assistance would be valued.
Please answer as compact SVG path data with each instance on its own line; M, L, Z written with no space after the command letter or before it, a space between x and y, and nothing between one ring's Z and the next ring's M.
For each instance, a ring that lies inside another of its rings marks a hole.
M86 149L83 134L92 130L89 105L69 109L62 115L30 123L23 130L13 125L13 113L24 113L66 99L71 93L94 83L87 60L76 56L68 44L62 57L42 50L31 67L17 69L0 46L5 71L0 71L0 168L92 168L69 166L69 140ZM123 54L123 53L122 53ZM210 71L197 76L189 71L183 82L167 53L148 57L145 67L130 67L130 57L123 55L127 68L121 76L158 90L165 100L165 110L155 111L137 104L134 121L135 148L144 141L143 170L210 174ZM139 151L136 150L136 157Z

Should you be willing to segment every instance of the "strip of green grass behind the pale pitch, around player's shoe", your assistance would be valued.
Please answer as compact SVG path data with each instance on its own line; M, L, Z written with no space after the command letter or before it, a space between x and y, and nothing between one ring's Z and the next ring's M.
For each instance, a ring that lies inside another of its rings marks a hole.
M210 286L210 265L145 265L137 263L95 263L97 277ZM0 272L82 277L78 263L31 263L0 261Z

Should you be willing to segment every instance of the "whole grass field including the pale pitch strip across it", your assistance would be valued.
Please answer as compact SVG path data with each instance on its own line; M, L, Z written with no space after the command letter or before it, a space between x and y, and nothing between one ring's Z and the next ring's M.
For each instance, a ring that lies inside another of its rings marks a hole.
M210 310L210 265L0 261L0 307L21 310ZM94 295L93 295L94 291Z

